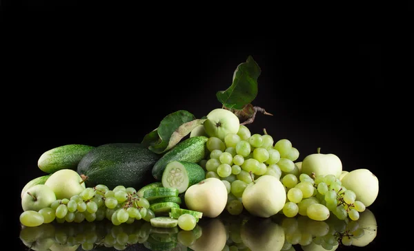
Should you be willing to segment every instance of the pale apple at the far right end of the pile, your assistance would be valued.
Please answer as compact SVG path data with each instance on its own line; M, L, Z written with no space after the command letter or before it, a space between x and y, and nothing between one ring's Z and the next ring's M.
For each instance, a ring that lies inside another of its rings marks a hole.
M366 168L355 169L342 178L342 186L352 190L365 206L371 206L379 191L378 178Z

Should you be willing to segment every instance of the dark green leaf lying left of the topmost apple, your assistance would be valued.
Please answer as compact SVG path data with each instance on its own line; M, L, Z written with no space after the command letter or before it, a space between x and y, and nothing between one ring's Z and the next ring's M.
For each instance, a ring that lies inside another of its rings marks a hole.
M155 153L164 153L170 146L172 134L181 127L182 124L195 120L195 116L185 110L175 111L168 114L161 122L157 129L144 136L142 144L148 146L148 149Z

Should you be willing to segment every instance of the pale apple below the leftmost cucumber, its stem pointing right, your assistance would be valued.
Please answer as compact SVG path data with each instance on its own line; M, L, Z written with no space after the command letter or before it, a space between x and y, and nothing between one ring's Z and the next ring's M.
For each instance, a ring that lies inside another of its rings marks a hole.
M84 180L72 169L61 169L52 173L45 185L52 188L57 199L70 199L86 188Z

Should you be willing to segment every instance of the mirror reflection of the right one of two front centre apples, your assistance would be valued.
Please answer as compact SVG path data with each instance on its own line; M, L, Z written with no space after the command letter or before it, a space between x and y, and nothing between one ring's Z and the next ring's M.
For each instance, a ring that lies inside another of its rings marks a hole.
M284 229L270 218L251 218L240 230L244 245L252 251L282 250Z

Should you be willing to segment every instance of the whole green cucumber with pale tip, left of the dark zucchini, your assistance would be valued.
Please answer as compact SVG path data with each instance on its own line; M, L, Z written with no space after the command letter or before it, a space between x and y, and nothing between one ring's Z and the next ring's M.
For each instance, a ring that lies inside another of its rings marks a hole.
M86 144L66 144L44 152L37 161L37 166L45 173L55 173L61 169L77 170L81 158L95 146Z

